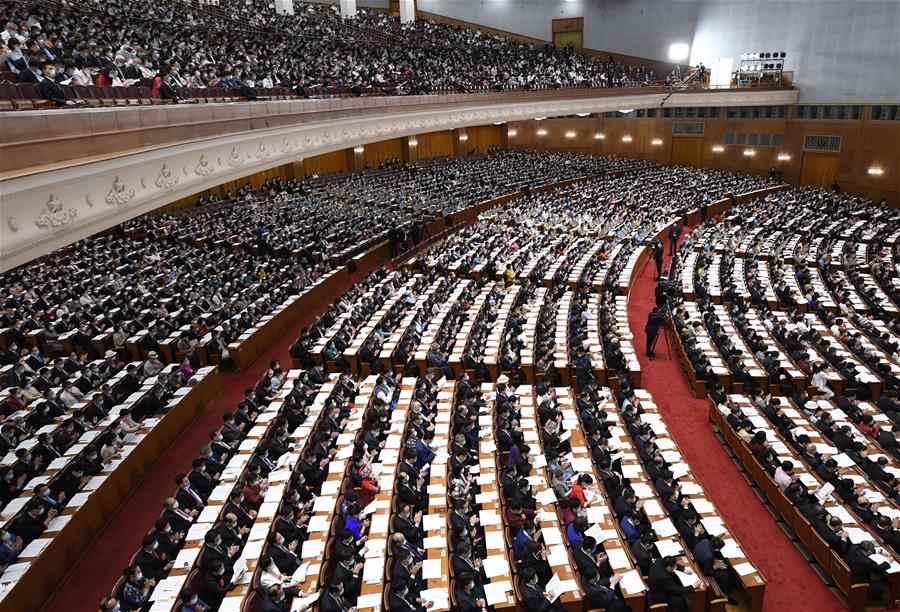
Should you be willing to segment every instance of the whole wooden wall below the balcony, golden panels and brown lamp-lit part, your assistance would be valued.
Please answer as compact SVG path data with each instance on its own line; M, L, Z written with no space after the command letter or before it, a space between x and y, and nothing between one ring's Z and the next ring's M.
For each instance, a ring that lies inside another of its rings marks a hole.
M672 136L672 123L676 121L702 121L703 136ZM540 135L539 130L546 133ZM729 130L784 134L784 144L778 147L724 145L724 151L714 151L715 145L723 144L724 134ZM515 136L509 136L513 131ZM467 135L466 141L459 140L461 133ZM596 134L602 134L603 139L595 138ZM841 151L804 152L804 137L813 134L841 136ZM631 141L623 141L625 136L630 137ZM860 193L874 201L885 198L890 204L900 206L900 122L865 118L858 121L828 121L565 117L428 132L416 136L416 140L418 145L415 151L408 148L407 138L393 138L366 145L365 151L358 156L352 149L317 155L230 181L170 204L163 210L193 205L205 196L222 195L248 184L258 188L273 178L288 180L311 174L348 172L354 165L360 168L375 167L387 159L417 160L469 155L507 146L591 152L595 155L650 159L660 164L684 164L754 174L764 174L776 167L784 173L785 180L793 184L829 186L836 180L847 193ZM660 144L654 144L659 141ZM744 155L745 149L753 149L755 155ZM781 153L787 153L791 158L779 161L777 157ZM884 174L868 174L870 166L883 168Z

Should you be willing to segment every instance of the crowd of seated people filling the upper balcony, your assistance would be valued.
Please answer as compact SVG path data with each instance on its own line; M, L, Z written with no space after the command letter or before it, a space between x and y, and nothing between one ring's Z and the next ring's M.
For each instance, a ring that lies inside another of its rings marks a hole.
M2 0L7 26L0 40L16 78L23 65L54 61L81 72L69 81L60 70L57 82L85 85L84 76L101 87L149 87L168 65L173 87L227 88L250 99L256 87L273 86L306 94L428 94L655 82L652 71L611 57L428 20L402 25L365 9L348 22L335 6L297 2L295 8L289 16L261 1L214 7L177 0L33 6Z

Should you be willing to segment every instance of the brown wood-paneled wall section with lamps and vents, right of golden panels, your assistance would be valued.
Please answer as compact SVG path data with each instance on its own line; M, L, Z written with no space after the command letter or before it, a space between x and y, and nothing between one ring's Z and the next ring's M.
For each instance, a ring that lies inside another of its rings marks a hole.
M673 136L672 123L677 121L703 122L703 136ZM860 193L875 201L885 198L889 203L900 206L900 122L866 119L574 117L512 122L507 127L516 132L514 137L509 138L512 148L592 151L597 155L652 159L662 164L685 163L755 174L764 174L776 167L790 183L818 184L824 178L832 177L845 192ZM546 130L546 135L538 136L539 129ZM724 145L724 134L729 130L736 133L783 134L784 144ZM575 136L566 138L566 132L574 132ZM603 140L596 140L596 133L603 134ZM804 152L805 137L814 134L841 136L840 153ZM629 136L631 141L623 141L625 136ZM653 144L654 139L662 143ZM714 151L715 145L723 145L724 151ZM744 155L746 149L752 149L754 155ZM779 161L779 154L788 154L790 159ZM884 174L869 175L870 166L880 166Z

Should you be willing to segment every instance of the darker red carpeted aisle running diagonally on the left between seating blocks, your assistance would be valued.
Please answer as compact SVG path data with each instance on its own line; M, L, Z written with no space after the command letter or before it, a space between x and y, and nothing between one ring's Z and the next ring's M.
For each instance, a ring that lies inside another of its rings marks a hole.
M343 293L361 278L354 275L340 292ZM206 406L203 414L156 462L137 491L125 500L97 539L69 570L63 583L44 606L45 611L96 612L100 598L109 595L122 570L140 548L144 534L159 517L162 500L175 492L175 475L191 470L191 461L209 441L209 432L222 424L222 414L237 406L244 397L244 390L256 384L271 360L279 360L284 369L291 368L290 345L296 340L300 328L311 323L325 306L321 304L318 308L310 308L308 320L298 323L296 333L287 334L250 368L223 374L221 397Z

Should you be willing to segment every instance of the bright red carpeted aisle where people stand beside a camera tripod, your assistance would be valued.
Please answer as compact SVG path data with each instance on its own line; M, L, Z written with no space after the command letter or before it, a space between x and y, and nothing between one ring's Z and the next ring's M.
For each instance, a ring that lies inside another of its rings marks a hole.
M668 251L668 244L666 244ZM669 258L666 256L666 266ZM640 355L643 386L653 394L669 431L691 465L709 499L762 570L766 612L829 612L845 610L797 551L744 481L708 422L708 400L696 399L672 351L666 358L660 338L657 358L644 357L644 324L655 305L656 266L648 259L631 290L628 320Z

